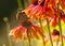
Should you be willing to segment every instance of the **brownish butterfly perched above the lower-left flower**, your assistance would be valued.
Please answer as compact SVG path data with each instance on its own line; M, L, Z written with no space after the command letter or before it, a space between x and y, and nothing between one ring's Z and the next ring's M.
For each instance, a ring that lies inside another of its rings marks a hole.
M27 20L29 18L27 17L26 13L22 9L18 9L17 14L16 14L16 19L20 21L23 21L23 20Z

